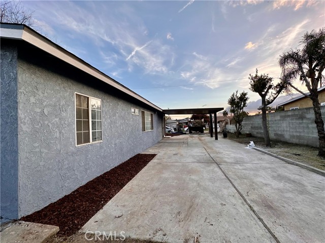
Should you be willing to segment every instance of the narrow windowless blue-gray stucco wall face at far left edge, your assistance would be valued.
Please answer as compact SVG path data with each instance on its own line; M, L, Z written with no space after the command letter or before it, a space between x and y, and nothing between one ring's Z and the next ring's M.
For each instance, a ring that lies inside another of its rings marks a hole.
M0 56L1 217L15 219L18 217L17 48L4 45Z

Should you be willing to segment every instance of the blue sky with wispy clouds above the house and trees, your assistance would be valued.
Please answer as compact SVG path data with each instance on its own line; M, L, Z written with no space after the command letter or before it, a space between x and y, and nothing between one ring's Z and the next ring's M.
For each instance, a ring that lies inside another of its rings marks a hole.
M42 34L163 109L227 107L239 90L254 112L249 73L278 78L279 55L325 25L322 1L23 4Z

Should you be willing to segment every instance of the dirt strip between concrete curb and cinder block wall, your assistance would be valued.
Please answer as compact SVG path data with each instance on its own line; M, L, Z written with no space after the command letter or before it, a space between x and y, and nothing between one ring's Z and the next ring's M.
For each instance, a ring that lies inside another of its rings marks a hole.
M325 170L325 159L317 156L318 148L316 147L272 140L272 147L269 148L265 146L264 138L246 137L246 135L239 135L239 138L236 138L233 133L228 133L228 138L246 145L248 145L250 141L253 141L256 147L307 166L312 166L323 171Z

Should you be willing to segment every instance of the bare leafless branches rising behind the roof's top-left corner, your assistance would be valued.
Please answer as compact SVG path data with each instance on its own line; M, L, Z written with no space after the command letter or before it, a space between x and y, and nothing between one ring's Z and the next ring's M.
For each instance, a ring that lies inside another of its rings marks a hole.
M25 24L29 27L34 27L36 24L33 18L34 11L29 11L24 8L21 2L17 1L2 1L0 3L0 22Z

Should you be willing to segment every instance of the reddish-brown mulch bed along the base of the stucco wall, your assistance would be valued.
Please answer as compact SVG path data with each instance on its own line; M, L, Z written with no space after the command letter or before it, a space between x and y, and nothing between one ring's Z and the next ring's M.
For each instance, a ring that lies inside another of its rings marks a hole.
M69 195L20 220L56 225L57 236L71 236L101 210L156 154L137 154Z

